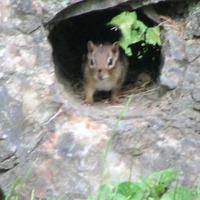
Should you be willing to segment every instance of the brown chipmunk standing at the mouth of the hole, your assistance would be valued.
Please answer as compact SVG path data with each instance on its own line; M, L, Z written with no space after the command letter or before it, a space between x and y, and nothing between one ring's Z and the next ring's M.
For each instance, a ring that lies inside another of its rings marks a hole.
M84 104L93 104L95 91L112 91L111 103L118 103L128 68L126 56L121 53L117 42L95 45L88 41L87 48L88 54L83 64Z

